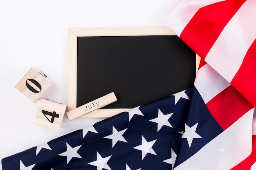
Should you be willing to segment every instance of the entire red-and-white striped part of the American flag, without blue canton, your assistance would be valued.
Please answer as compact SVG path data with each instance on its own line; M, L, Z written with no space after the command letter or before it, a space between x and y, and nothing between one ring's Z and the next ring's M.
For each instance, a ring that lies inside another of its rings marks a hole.
M255 17L255 0L182 0L173 11L168 26L202 57L195 87L224 129L175 170L256 170Z

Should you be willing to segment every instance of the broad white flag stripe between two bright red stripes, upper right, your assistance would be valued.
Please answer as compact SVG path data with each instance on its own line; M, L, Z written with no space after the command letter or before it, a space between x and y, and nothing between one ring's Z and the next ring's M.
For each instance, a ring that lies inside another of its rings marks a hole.
M225 26L205 58L228 82L236 75L256 38L255 17L255 0L247 0Z

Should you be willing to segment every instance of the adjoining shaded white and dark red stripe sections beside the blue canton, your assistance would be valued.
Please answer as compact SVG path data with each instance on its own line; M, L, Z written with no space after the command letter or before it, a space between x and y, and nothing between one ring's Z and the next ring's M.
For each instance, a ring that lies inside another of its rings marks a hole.
M224 130L254 108L209 64L205 64L198 70L194 85L211 115Z

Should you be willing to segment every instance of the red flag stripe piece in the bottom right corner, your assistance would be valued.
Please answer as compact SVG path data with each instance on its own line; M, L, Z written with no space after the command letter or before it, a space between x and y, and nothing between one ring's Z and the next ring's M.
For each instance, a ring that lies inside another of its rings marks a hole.
M239 163L231 170L250 170L251 166L256 162L256 135L252 136L252 153L244 161Z

